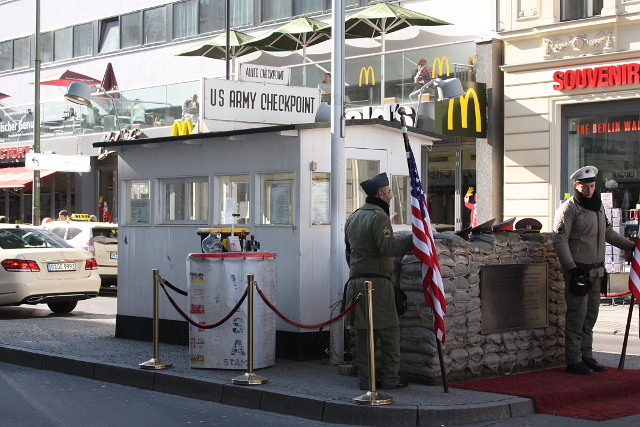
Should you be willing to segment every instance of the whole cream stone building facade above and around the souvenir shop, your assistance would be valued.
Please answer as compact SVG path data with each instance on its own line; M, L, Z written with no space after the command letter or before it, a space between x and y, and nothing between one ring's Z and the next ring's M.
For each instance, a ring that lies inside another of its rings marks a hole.
M550 231L573 192L569 176L598 168L598 191L621 233L637 233L640 196L640 2L499 2L504 41L504 211ZM628 260L607 253L610 272Z

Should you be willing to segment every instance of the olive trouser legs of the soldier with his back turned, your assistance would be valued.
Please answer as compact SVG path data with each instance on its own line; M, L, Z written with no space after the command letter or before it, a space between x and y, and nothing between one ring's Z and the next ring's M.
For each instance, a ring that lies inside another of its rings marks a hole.
M374 340L380 340L380 383L383 387L395 387L400 380L400 327L373 330ZM369 385L369 344L367 330L356 329L356 362L360 385Z

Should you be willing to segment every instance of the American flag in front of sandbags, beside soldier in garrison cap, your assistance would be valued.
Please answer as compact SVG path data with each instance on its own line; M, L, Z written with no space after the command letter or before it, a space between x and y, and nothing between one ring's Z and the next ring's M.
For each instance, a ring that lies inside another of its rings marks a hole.
M447 302L444 296L436 244L431 232L431 219L429 218L429 212L427 212L426 198L422 190L416 159L413 156L406 129L406 127L403 127L402 131L405 137L405 149L407 151L407 163L409 164L411 180L413 253L422 263L422 289L424 291L424 300L433 311L433 331L440 342L444 344L444 315L447 312Z

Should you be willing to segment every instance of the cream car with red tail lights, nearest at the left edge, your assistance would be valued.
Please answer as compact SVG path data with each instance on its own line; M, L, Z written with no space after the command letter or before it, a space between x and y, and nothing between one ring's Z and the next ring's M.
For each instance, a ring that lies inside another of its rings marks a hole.
M0 260L0 306L46 303L69 313L100 291L94 256L40 227L0 224Z

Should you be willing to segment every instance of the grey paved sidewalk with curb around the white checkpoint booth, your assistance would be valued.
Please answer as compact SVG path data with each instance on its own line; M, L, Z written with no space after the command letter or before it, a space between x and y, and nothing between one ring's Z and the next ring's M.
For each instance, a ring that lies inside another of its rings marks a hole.
M231 384L231 379L244 371L192 369L189 349L168 344L160 344L159 356L173 366L142 370L138 365L153 357L153 345L115 338L115 315L82 313L81 309L66 316L40 311L46 314L0 316L1 362L331 423L441 426L504 420L534 412L533 402L527 398L456 388L444 393L442 386L419 384L380 391L393 397L392 405L356 405L351 399L364 393L358 389L358 379L341 376L336 366L321 362L277 360L275 366L256 371L268 378L268 383L238 386ZM603 305L596 329L599 333L624 333L627 313L628 305ZM637 325L637 313L634 319L633 325Z

